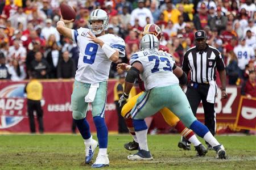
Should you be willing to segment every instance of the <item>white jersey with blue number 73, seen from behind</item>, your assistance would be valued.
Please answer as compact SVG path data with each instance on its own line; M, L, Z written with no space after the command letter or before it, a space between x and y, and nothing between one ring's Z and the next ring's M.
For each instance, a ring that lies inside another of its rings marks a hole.
M143 66L141 78L146 90L179 84L179 79L172 72L175 61L171 54L158 50L141 51L131 56L130 65L134 62L140 62Z

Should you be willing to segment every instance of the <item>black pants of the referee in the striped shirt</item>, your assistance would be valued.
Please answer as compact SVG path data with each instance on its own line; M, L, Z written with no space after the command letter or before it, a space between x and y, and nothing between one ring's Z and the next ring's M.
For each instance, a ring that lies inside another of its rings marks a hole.
M214 103L207 102L209 87L209 84L199 84L191 82L188 84L186 96L188 98L192 112L195 116L197 108L202 101L204 108L204 124L210 130L210 133L212 133L212 135L215 135L216 114L214 111Z

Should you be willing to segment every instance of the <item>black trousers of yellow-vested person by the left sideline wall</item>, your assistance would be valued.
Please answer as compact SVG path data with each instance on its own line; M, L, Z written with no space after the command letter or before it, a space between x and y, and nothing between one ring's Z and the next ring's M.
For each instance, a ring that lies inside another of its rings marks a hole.
M28 118L30 121L30 131L31 133L35 133L35 118L34 118L34 111L36 111L36 118L38 120L39 125L39 132L44 132L44 125L43 125L43 109L41 107L40 100L27 100L27 112Z

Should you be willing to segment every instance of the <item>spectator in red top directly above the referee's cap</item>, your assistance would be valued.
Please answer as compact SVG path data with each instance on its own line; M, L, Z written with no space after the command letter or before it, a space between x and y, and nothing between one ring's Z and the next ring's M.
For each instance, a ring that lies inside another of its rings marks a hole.
M199 13L196 14L193 18L193 23L195 25L195 28L197 30L204 29L204 27L208 23L208 18L209 16L208 16L207 6L205 5L205 3L201 3Z

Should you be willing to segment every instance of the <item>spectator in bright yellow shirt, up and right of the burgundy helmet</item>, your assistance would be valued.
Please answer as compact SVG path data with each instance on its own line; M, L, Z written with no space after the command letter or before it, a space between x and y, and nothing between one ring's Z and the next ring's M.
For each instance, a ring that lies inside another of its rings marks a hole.
M163 11L164 21L165 22L171 21L172 23L176 24L178 22L179 15L181 15L180 11L174 8L171 0L169 0L166 3L166 7L167 7L166 10Z

